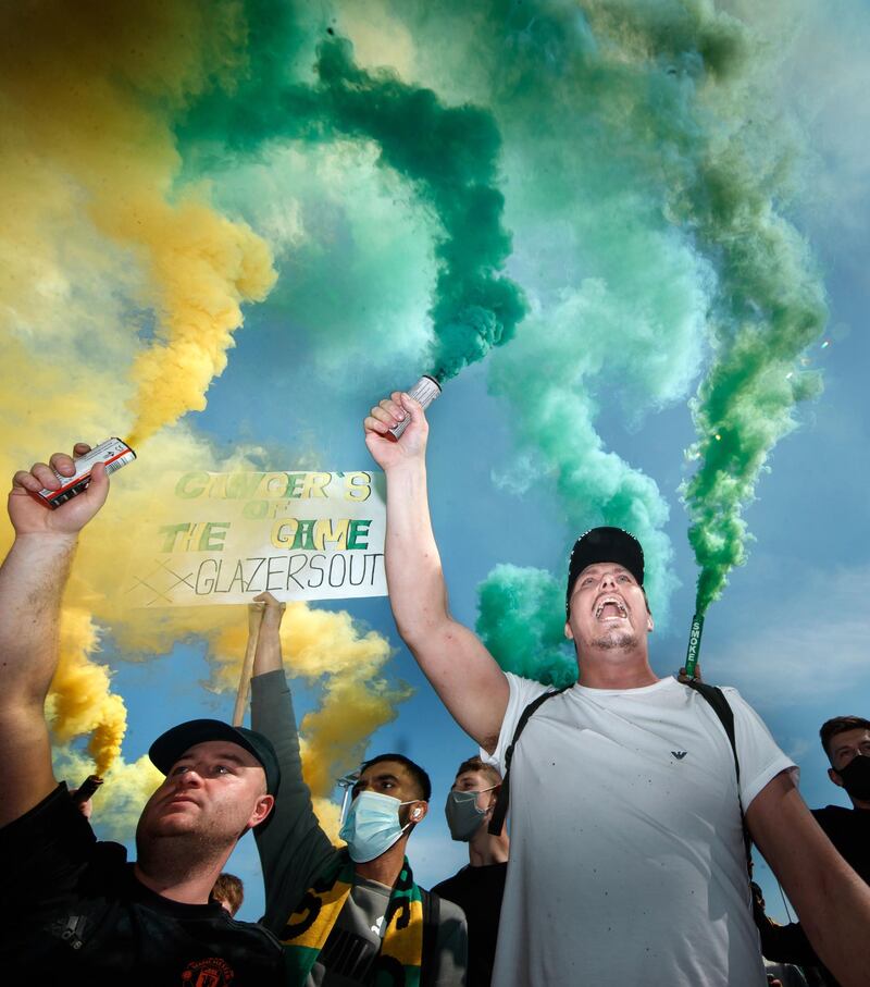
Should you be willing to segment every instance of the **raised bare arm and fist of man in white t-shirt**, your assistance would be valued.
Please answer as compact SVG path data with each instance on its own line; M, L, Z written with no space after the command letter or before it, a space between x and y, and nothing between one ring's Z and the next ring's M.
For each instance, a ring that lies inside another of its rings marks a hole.
M410 416L401 439L388 430ZM480 639L450 616L428 513L426 437L420 405L395 392L365 419L365 444L387 478L386 572L396 627L442 702L474 740L494 751L508 681Z

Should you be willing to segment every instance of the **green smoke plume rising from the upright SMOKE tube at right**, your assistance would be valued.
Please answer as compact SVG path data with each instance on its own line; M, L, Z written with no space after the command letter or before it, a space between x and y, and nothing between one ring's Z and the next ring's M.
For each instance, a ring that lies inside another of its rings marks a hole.
M806 244L772 212L771 193L747 188L751 160L724 158L711 162L720 196L699 229L723 247L726 304L716 323L716 359L693 402L700 437L689 455L701 465L684 488L700 567L699 614L722 592L730 569L746 560L743 508L771 449L796 427L796 403L821 392L821 378L803 371L799 357L826 321Z

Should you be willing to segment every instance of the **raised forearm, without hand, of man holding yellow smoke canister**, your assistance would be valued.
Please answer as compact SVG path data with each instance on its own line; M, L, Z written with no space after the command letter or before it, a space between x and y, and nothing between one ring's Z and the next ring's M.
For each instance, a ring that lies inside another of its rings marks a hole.
M0 567L0 705L41 704L58 664L61 600L77 538L18 535Z

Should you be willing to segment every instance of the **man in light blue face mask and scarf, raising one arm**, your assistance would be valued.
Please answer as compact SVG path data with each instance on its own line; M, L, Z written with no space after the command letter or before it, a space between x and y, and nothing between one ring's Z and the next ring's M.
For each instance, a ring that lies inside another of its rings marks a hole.
M428 811L428 775L401 754L365 762L338 850L321 828L302 779L299 738L284 676L283 606L269 593L251 680L251 719L275 747L281 804L257 840L266 893L263 924L285 948L290 987L465 983L461 910L420 888L406 858Z

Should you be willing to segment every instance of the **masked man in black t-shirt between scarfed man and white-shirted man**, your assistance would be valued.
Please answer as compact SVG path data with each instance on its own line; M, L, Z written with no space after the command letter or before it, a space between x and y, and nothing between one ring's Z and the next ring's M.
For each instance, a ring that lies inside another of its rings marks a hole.
M445 814L450 836L469 844L469 863L458 874L432 889L455 901L469 924L468 987L489 987L498 941L498 918L505 895L510 840L502 824L489 832L501 775L480 757L459 765L447 795Z

